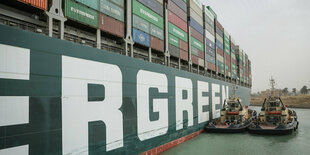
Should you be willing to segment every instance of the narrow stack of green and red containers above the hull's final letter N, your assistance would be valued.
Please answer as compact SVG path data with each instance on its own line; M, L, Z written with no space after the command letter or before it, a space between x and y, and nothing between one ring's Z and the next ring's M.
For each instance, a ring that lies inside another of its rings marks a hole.
M230 35L224 30L225 75L231 77Z

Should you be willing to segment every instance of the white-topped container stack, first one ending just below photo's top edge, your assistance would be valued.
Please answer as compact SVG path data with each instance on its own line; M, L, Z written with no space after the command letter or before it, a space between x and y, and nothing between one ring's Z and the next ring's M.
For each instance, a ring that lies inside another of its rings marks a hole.
M206 46L206 67L209 70L216 71L216 57L215 57L215 31L214 20L216 19L215 12L210 8L204 6L204 28L205 28L205 46Z

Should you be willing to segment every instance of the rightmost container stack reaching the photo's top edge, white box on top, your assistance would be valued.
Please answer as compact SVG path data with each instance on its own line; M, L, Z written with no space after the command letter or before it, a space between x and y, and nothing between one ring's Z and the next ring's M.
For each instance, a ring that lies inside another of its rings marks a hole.
M204 29L203 29L203 11L200 0L190 0L189 2L189 20L191 30L191 52L192 62L199 66L205 64L204 53Z

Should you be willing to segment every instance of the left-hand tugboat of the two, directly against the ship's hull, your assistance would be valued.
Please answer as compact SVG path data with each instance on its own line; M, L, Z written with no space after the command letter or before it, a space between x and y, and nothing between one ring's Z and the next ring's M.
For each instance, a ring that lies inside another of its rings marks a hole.
M205 127L207 132L237 133L247 130L256 119L256 111L242 106L241 99L236 97L236 86L233 85L232 97L225 100L221 116Z

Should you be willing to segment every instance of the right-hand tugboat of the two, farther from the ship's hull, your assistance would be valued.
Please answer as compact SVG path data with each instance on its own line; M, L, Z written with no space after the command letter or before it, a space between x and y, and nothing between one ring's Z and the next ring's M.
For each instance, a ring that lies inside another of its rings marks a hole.
M261 112L249 127L250 133L289 134L298 129L297 114L275 96L275 80L271 78L271 93L265 98Z

